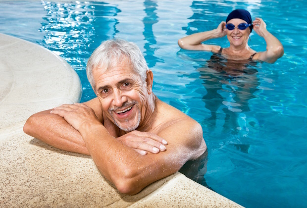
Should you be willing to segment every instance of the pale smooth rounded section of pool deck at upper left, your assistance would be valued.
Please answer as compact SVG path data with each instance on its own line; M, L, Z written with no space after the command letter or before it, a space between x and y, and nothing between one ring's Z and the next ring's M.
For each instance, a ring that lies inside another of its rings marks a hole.
M81 98L80 79L66 61L43 47L3 34L0 79L0 135L20 127L35 112Z

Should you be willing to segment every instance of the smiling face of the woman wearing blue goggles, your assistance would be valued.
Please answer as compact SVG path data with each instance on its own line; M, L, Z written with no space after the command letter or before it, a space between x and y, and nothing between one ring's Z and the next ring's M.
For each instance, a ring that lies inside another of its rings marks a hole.
M238 25L241 23L247 23L243 19L231 19L227 22L227 24L233 24L235 29L228 30L226 29L227 39L230 42L230 45L234 47L246 46L249 40L249 36L251 34L250 28L246 28L245 30L239 30Z

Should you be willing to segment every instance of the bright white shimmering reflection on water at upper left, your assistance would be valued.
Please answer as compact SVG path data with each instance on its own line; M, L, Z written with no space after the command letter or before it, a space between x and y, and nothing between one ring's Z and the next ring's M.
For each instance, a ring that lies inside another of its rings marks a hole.
M69 57L73 63L86 57L95 29L90 27L95 20L94 6L88 3L56 3L43 1L46 17L40 32L45 33L42 45L51 51ZM74 54L78 54L75 57Z

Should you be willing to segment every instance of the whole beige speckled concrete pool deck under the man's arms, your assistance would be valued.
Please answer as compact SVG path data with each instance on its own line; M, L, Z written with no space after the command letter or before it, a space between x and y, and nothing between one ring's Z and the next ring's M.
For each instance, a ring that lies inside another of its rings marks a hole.
M78 75L49 50L0 34L0 80L0 207L241 207L179 172L121 194L90 156L23 133L30 115L81 98Z

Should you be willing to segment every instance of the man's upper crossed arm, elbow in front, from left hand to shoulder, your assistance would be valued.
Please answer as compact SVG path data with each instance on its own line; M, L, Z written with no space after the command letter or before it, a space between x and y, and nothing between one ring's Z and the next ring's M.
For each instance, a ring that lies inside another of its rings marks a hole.
M143 156L114 139L91 109L78 106L65 105L51 113L62 116L80 132L99 170L121 193L137 194L205 152L202 127L183 113L182 119L166 124L157 134L168 140L167 150Z

